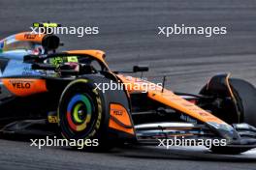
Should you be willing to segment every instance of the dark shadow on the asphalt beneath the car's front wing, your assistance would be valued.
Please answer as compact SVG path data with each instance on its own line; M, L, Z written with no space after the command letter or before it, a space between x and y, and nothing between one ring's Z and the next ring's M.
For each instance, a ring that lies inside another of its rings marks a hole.
M218 155L207 149L171 148L169 150L157 147L130 146L123 148L116 156L152 158L152 159L184 159L198 161L229 161L229 162L256 162L256 152L253 154Z

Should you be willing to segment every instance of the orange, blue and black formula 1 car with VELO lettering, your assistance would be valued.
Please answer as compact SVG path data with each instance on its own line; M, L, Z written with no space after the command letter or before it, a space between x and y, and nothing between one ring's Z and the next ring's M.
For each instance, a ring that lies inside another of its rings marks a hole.
M126 75L147 67L111 71L103 51L56 52L60 44L56 35L31 32L0 42L3 134L97 138L97 148L157 145L176 136L226 139L227 145L211 148L216 153L256 147L256 89L250 83L219 74L198 95L176 93Z

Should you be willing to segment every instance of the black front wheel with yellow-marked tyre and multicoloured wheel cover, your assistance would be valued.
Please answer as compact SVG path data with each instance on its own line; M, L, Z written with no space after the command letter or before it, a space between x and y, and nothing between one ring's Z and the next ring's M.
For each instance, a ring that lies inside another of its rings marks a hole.
M71 82L65 88L58 108L62 136L70 141L83 139L82 148L86 150L110 149L104 131L108 125L105 109L103 96L93 83L87 79Z

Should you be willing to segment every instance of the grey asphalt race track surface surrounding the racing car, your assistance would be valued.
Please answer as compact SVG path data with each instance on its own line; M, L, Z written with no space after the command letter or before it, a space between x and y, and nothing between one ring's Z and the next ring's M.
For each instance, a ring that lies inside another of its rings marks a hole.
M232 72L256 85L255 0L12 0L0 1L0 38L30 30L32 22L97 26L98 35L61 36L65 49L106 51L112 70L149 65L144 73L174 91L197 93L216 73ZM158 26L225 26L226 35L158 35ZM135 74L140 75L140 74ZM215 156L204 149L131 147L111 153L68 148L39 150L0 140L0 169L256 169L256 152Z

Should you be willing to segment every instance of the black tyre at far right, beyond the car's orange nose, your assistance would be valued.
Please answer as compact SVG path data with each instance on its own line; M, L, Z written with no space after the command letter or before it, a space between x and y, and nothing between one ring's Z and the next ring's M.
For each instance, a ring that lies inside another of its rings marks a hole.
M216 97L205 109L211 110L228 124L247 123L256 127L256 89L249 82L229 78L227 74L213 76L201 90L201 95Z

